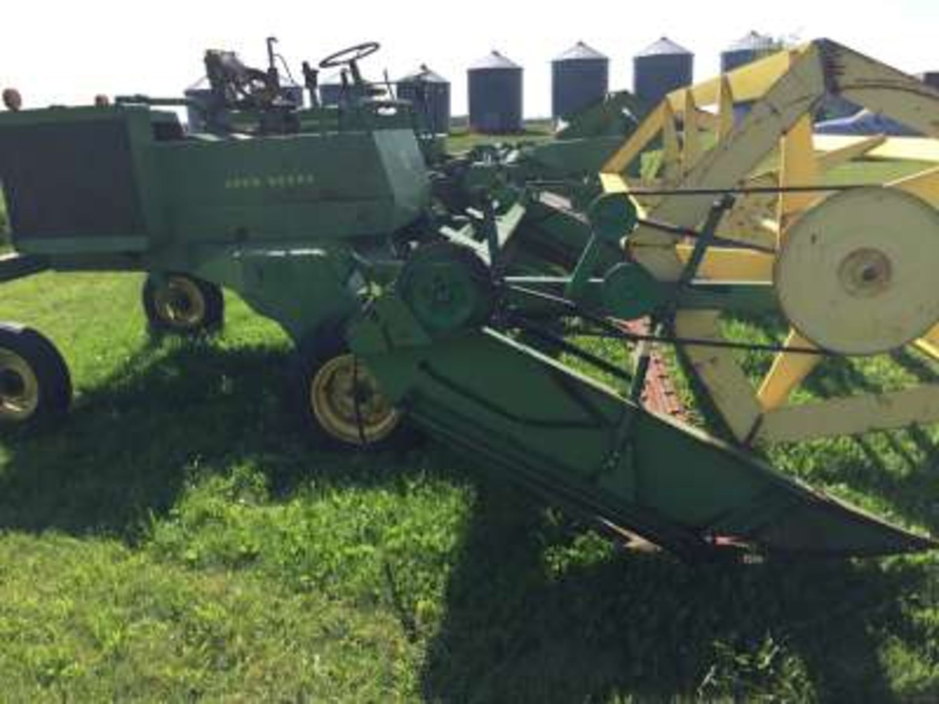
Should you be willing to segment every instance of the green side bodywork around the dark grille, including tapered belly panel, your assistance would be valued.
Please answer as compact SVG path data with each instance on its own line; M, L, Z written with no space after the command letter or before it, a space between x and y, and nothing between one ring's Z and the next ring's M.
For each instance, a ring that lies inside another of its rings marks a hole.
M191 273L238 292L299 341L357 305L364 280L353 277L349 246L391 257L380 243L428 206L429 178L412 130L157 139L155 125L175 119L145 106L0 115L0 134L55 137L48 130L57 126L67 137L82 124L108 130L102 146L116 145L127 161L132 183L123 197L136 207L132 231L40 237L14 230L17 250L60 270ZM55 163L43 166L53 171ZM107 188L90 191L75 179L64 186L60 197L85 199L89 210L114 207ZM8 278L31 273L9 271Z

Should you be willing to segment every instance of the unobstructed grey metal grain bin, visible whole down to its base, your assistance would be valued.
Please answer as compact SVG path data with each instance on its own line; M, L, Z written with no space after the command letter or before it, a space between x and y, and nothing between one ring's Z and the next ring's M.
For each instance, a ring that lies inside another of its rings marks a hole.
M472 64L469 77L469 129L488 134L520 132L522 68L499 52Z

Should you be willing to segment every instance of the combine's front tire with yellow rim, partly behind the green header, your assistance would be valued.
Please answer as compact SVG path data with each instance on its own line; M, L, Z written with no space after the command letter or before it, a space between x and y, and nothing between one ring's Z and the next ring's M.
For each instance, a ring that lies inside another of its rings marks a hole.
M303 431L320 448L385 451L414 446L420 434L378 388L339 328L327 326L294 356L291 395Z

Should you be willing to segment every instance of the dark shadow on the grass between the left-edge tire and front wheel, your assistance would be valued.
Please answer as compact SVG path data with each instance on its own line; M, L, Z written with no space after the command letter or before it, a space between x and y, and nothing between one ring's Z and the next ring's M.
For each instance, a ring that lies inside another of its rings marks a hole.
M154 341L78 398L57 427L6 436L0 529L132 542L188 479L241 460L259 460L275 497L315 472L340 484L382 481L362 462L305 441L285 401L288 363L286 350L269 347Z

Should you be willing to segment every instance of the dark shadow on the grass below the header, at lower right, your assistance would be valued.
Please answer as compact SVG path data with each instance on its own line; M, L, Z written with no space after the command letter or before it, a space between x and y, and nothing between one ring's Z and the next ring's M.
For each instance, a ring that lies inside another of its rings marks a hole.
M544 516L484 490L428 650L426 700L891 699L877 638L913 627L899 597L921 572L617 554L559 573L546 554L568 538Z

